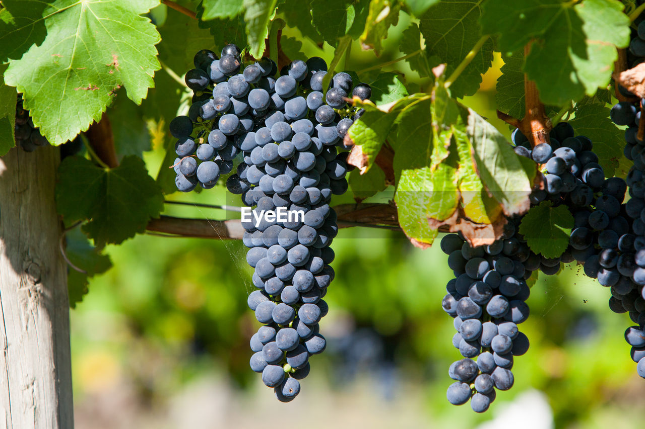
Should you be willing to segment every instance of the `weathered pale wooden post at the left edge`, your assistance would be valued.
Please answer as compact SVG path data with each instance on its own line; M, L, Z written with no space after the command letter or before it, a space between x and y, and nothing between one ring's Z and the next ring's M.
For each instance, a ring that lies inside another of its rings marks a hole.
M0 428L74 427L59 150L0 158Z

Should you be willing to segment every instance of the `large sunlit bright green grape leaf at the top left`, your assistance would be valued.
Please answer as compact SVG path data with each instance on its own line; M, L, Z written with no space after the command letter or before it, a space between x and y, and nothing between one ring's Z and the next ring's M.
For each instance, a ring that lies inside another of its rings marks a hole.
M101 114L125 86L136 102L159 70L159 33L140 16L158 0L76 2L45 8L48 37L10 62L5 82L24 93L35 126L55 145L74 138Z

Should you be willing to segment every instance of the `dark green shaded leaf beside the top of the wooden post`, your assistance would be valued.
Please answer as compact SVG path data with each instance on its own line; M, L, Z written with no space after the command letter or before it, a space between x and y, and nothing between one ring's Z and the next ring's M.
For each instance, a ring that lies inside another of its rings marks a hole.
M163 195L139 157L124 157L110 169L68 157L59 166L56 207L65 222L87 220L83 231L103 247L143 233L163 210Z

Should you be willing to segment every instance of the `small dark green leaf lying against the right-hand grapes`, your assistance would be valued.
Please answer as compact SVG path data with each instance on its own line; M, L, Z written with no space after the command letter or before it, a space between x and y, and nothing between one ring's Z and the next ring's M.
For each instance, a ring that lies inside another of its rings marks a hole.
M566 205L553 207L550 201L542 201L524 215L519 233L534 253L557 258L569 246L571 228L573 216Z

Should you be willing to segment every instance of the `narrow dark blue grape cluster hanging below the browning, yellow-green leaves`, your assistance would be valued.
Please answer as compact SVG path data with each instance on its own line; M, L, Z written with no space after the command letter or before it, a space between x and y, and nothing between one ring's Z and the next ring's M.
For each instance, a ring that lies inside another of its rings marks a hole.
M525 280L542 262L550 262L531 253L517 233L517 219L509 220L502 238L490 245L471 247L458 234L448 234L441 250L455 272L442 307L454 318L453 345L464 357L448 370L455 383L446 396L453 405L470 399L471 408L481 413L495 400L495 388L513 386L513 356L529 347L517 327L529 316Z

